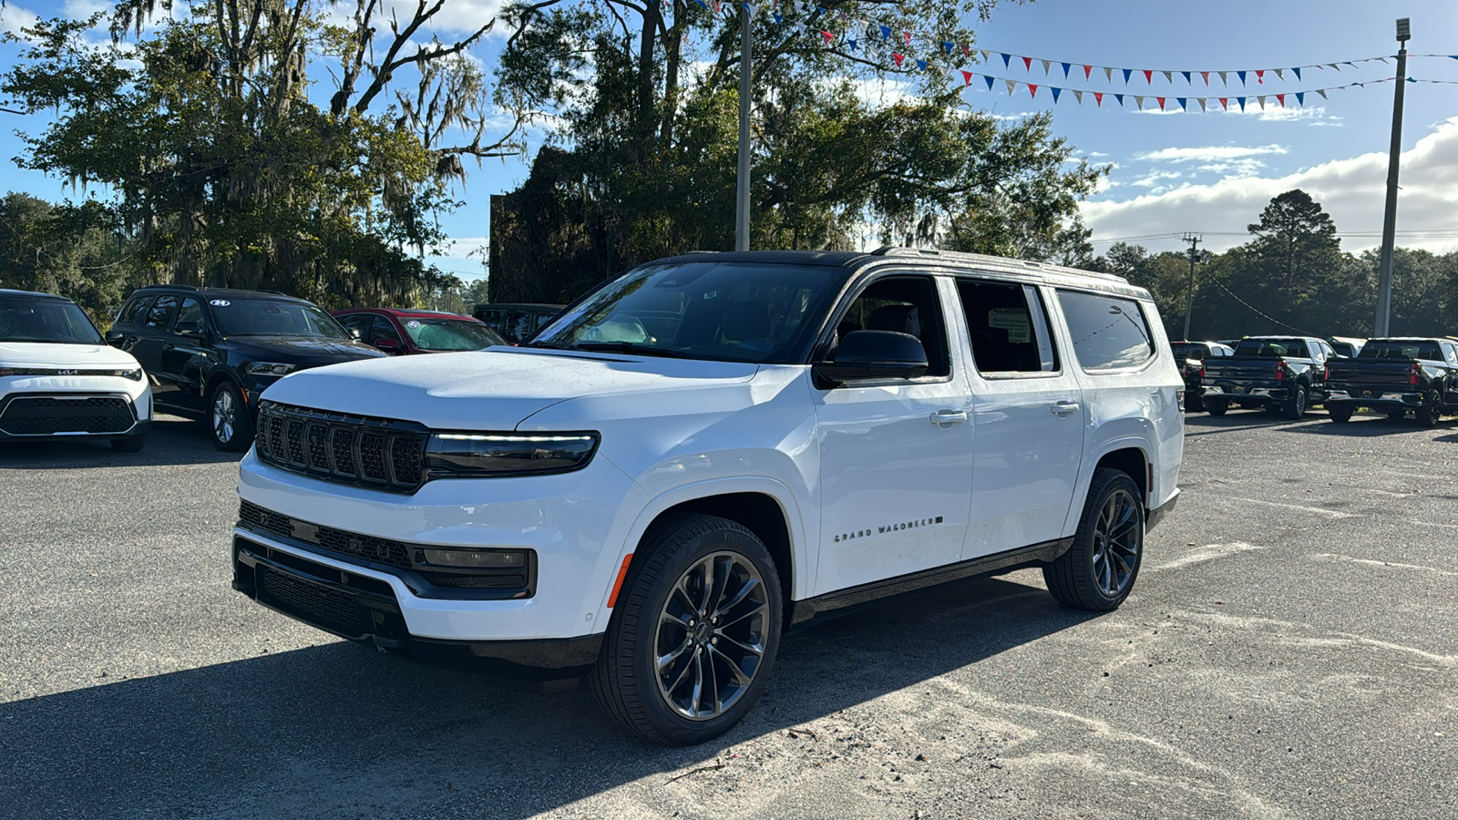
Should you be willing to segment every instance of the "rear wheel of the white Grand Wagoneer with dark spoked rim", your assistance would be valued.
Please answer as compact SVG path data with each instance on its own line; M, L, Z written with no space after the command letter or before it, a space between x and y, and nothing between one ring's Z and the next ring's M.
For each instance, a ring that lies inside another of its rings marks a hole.
M1095 613L1118 608L1134 588L1145 556L1145 505L1120 470L1101 468L1089 483L1073 547L1042 568L1063 606Z

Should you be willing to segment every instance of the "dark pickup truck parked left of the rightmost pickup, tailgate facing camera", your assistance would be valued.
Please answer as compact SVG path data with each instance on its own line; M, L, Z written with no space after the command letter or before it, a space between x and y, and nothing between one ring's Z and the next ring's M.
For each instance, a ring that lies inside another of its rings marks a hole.
M1311 336L1247 336L1235 356L1204 365L1204 409L1223 416L1231 404L1264 407L1301 419L1327 398L1331 346Z

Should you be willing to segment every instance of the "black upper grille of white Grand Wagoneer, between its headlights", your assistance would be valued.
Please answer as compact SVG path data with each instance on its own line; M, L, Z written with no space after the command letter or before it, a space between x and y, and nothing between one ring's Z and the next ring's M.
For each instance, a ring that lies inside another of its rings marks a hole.
M325 481L397 493L424 479L426 438L420 425L344 416L264 401L258 411L258 458Z

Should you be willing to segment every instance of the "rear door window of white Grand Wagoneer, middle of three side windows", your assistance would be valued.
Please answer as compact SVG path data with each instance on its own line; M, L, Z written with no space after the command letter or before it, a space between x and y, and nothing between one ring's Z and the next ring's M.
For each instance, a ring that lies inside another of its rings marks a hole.
M1037 289L1009 282L956 283L972 362L981 374L1051 374L1059 369L1053 333Z

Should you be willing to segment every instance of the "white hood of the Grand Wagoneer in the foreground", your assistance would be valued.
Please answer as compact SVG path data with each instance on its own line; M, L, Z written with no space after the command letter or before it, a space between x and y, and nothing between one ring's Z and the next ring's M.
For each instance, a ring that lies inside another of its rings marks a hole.
M741 362L491 347L303 371L264 398L434 429L510 430L569 398L742 384L757 371Z

